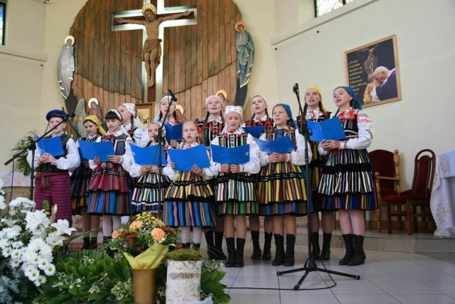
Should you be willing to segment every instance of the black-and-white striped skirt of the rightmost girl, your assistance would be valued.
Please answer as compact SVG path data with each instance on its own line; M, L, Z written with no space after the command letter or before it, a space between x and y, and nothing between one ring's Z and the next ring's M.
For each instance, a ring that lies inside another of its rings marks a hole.
M375 210L375 178L366 149L333 150L321 172L325 210Z

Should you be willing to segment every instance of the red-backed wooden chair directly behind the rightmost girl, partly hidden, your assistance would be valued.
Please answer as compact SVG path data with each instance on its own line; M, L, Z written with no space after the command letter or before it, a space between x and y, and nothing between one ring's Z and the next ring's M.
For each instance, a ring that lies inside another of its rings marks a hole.
M400 154L386 150L374 150L370 153L370 160L375 170L376 192L378 205L376 209L376 224L378 232L382 231L381 207L385 206L382 197L398 195L400 193ZM400 218L401 223L401 218Z

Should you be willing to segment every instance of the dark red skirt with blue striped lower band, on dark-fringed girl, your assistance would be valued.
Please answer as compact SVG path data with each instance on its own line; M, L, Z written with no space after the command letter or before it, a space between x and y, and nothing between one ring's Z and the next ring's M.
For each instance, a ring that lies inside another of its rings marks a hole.
M92 171L88 186L87 213L92 215L129 215L132 191L129 175L121 165Z

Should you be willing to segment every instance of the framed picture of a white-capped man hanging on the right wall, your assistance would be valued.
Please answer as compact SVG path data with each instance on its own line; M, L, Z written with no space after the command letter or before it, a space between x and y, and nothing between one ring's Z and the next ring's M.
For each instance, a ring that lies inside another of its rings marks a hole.
M401 100L397 36L348 50L345 58L349 86L354 89L362 107Z

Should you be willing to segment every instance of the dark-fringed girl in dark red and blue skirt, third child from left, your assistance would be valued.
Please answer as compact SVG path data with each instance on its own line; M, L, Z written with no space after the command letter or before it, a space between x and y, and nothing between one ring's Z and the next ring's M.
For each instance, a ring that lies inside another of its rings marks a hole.
M87 213L102 215L102 235L108 242L112 232L120 227L120 217L129 215L131 192L128 171L132 160L124 154L132 139L122 131L122 115L116 109L109 110L105 120L109 131L97 142L112 141L115 155L109 156L107 162L100 162L99 157L89 161L92 178L88 186Z

